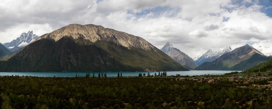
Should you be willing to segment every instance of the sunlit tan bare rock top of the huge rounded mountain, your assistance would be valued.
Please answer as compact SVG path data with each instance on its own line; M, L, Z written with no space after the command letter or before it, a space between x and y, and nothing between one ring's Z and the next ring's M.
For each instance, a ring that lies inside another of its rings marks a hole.
M122 45L126 48L133 46L144 50L154 49L153 45L141 37L92 24L70 24L51 33L45 34L41 38L52 38L55 41L58 41L64 36L72 37L74 39L83 38L91 42L96 42L98 40L112 41L115 44Z

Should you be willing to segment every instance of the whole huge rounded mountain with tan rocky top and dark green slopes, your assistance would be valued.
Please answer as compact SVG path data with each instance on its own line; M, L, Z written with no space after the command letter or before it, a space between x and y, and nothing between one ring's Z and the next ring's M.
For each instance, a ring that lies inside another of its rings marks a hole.
M188 71L143 38L98 25L71 24L23 48L0 71Z

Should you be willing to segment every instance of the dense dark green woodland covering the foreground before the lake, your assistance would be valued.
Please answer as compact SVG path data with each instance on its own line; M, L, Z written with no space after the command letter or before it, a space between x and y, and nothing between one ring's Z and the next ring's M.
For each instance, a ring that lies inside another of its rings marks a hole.
M88 78L0 78L0 104L3 104L2 108L11 106L16 109L272 107L272 91L265 87L251 87L251 84L233 84L224 80L216 83L175 81L175 77L89 78L90 74L86 75Z

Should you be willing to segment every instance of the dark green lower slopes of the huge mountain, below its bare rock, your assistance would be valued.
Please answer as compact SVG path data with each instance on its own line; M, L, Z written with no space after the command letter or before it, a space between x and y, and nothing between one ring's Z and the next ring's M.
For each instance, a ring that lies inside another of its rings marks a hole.
M113 42L63 37L44 38L31 43L8 61L0 62L0 71L92 72L92 71L187 71L159 49L152 51Z

